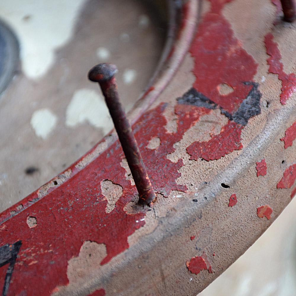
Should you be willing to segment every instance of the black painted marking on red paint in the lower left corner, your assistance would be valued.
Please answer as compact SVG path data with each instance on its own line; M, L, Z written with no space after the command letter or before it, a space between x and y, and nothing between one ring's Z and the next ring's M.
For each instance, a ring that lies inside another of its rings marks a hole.
M6 296L8 293L13 268L15 267L15 261L17 260L17 254L20 251L21 245L22 241L17 241L14 244L5 244L0 247L0 267L9 264L4 279L2 296Z

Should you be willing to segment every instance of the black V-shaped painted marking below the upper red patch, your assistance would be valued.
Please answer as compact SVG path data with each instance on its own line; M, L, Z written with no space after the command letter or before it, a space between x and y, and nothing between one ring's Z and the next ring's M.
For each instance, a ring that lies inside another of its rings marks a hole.
M223 108L218 106L218 104L211 101L202 93L198 92L196 89L191 88L183 96L177 98L178 104L194 105L197 107L205 107L208 109L220 109L221 114L225 115L229 120L233 120L242 126L247 125L248 120L261 113L260 99L261 93L258 90L259 84L252 81L244 82L245 85L252 85L252 89L249 92L246 99L242 101L238 110L233 114L225 111Z

